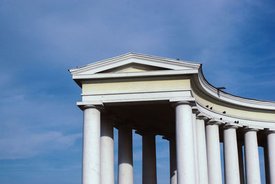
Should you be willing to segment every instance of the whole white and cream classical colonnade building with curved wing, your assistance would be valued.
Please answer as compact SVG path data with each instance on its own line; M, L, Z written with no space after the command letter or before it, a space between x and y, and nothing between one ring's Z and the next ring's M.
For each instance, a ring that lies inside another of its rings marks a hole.
M220 142L226 184L261 183L259 146L275 184L275 102L212 87L199 63L142 54L69 71L82 88L83 184L114 183L113 127L119 184L133 183L133 129L142 135L143 184L157 183L155 135L170 143L171 184L221 184Z

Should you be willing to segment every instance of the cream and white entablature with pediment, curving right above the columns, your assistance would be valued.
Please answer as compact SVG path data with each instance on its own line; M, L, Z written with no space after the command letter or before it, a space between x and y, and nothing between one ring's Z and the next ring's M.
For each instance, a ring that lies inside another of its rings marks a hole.
M69 71L83 89L78 106L192 101L210 119L275 127L275 102L236 97L214 88L204 78L200 63L130 53Z

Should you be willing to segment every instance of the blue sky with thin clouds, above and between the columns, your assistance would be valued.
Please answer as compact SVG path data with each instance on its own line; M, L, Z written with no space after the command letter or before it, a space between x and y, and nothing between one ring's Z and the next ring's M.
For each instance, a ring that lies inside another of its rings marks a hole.
M129 51L179 58L202 62L228 93L275 101L274 17L265 0L1 0L0 183L81 182L83 112L70 68ZM161 137L157 155L158 183L168 183Z

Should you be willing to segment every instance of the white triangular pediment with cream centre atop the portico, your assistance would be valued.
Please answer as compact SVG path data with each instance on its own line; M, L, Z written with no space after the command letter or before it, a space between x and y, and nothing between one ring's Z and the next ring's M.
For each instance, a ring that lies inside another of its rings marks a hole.
M96 73L131 73L164 70L198 69L196 62L159 58L143 54L129 53L115 58L94 62L84 67L70 69L73 75L92 75Z

